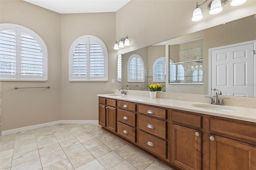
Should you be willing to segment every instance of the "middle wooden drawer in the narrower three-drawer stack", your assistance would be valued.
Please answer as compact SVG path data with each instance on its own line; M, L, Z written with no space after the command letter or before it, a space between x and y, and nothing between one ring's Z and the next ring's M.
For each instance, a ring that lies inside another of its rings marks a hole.
M130 125L132 127L135 127L136 123L135 123L135 120L136 120L136 114L135 113L132 113L132 112L128 112L128 111L123 111L123 110L120 110L118 109L117 111L117 120L119 122L122 122L126 125Z

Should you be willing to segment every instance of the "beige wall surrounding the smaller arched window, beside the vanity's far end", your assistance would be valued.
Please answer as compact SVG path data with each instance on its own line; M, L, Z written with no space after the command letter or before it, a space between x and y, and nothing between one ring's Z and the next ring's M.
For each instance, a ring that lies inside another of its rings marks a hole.
M115 42L115 13L63 14L61 15L62 51L62 120L98 120L97 94L113 93L117 77ZM107 82L69 82L68 52L79 37L93 35L100 38L108 50Z

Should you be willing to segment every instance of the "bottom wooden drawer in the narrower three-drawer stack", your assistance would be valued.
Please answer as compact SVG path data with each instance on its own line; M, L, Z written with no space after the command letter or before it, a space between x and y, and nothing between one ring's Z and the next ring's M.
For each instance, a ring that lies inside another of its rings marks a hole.
M127 138L128 140L135 142L136 129L129 127L128 125L124 125L120 122L117 123L117 133L121 136Z

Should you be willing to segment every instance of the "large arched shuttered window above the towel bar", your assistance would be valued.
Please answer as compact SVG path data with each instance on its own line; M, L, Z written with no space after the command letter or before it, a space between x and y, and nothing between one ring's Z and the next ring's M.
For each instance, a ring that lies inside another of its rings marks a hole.
M47 80L47 49L35 32L16 24L0 24L0 80Z

